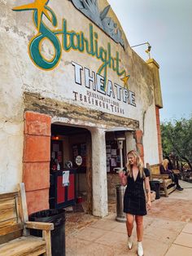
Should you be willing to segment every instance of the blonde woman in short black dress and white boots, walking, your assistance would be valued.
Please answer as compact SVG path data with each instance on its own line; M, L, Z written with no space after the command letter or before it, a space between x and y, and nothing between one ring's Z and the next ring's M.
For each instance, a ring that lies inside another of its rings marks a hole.
M120 180L123 186L127 185L124 192L124 213L126 213L126 226L128 232L128 247L132 249L132 231L135 219L137 225L137 255L143 255L143 216L147 209L151 208L151 189L148 169L143 167L142 159L138 152L132 150L128 152L128 164L124 171L120 171ZM144 188L146 188L146 196ZM147 199L146 199L147 197Z

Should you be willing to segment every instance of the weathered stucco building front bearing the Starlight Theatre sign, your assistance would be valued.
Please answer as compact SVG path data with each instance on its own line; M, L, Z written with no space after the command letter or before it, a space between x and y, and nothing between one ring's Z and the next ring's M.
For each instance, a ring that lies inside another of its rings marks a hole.
M62 169L81 155L76 190L107 215L118 136L124 163L131 149L162 159L159 65L133 51L105 0L4 0L0 11L0 192L23 181L29 214L48 209L51 160Z

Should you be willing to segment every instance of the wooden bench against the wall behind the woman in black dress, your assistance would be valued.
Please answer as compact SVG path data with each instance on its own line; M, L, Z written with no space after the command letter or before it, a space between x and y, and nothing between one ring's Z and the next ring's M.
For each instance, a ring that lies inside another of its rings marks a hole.
M160 182L160 195L167 196L176 189L176 184L168 177L168 174L160 174L160 164L149 165L146 168L150 170L150 180L158 180Z

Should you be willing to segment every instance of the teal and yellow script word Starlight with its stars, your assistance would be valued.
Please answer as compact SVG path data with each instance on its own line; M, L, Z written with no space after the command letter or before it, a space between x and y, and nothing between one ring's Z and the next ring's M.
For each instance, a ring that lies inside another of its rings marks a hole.
M103 64L98 68L97 73L104 73L105 81L107 78L107 68L112 68L118 76L122 77L124 85L127 86L129 75L126 74L124 69L120 70L119 52L116 51L116 56L111 56L110 43L107 43L107 49L104 49L102 46L99 46L98 33L94 32L92 24L89 24L89 38L85 38L85 34L81 31L76 32L68 29L68 21L65 19L63 19L62 29L50 29L42 21L42 15L45 15L46 19L50 20L50 23L54 27L57 26L57 17L54 11L47 6L48 2L49 0L35 0L35 2L33 3L13 8L13 11L33 11L33 21L37 28L37 35L35 35L29 42L28 49L29 55L33 60L34 64L36 64L39 68L43 68L45 70L55 68L57 64L59 64L59 60L62 55L62 48L63 51L77 50L79 52L86 52L88 55L92 55L98 60L102 60ZM77 5L77 1L72 2L75 3L76 6L80 7L79 4ZM87 3L87 5L89 7L98 7L97 1L92 2L92 6L90 6L90 3ZM87 9L81 9L81 11L82 10ZM98 9L96 8L95 10ZM103 10L103 12L107 13L107 11L105 10ZM102 17L103 13L100 14L100 16ZM120 33L119 31L120 30L117 29L116 33ZM59 42L59 35L62 35L62 43ZM52 60L46 60L44 56L41 55L41 43L45 39L50 40L50 42L53 44L55 48L55 56Z

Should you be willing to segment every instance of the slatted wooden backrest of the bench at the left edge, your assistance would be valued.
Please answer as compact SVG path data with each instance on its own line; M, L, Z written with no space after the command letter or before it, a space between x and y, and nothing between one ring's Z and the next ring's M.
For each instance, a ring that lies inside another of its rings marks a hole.
M0 194L0 245L23 233L20 192Z

